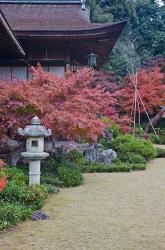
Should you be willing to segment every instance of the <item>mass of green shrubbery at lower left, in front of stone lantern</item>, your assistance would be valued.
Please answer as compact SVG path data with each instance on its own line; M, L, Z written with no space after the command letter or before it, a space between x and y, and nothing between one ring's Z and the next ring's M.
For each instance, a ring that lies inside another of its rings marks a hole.
M5 172L8 181L0 192L0 230L29 218L33 211L43 206L48 194L53 192L48 185L29 187L27 176L21 169L7 167Z

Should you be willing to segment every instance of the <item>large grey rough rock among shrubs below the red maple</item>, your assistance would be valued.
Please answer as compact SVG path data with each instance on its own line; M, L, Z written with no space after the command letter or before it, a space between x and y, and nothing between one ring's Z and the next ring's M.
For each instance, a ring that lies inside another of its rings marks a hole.
M117 154L112 149L103 150L89 149L85 151L85 159L89 163L112 163L116 158Z

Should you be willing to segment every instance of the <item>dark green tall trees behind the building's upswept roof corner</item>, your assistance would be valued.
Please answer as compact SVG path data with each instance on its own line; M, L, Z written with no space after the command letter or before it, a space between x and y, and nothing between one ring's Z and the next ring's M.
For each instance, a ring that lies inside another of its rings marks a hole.
M156 55L164 55L165 5L159 6L158 1L152 0L90 0L89 2L92 21L105 23L127 21L121 40L105 65L105 69L116 72L119 80L128 74L127 62L134 61L132 56L127 56L130 47L126 46L125 39L135 44L141 64Z

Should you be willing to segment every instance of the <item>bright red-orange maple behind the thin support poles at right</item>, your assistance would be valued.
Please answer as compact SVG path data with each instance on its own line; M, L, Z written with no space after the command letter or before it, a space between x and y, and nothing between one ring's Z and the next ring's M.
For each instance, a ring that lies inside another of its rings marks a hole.
M154 114L160 105L165 105L165 84L164 75L158 67L147 71L141 69L137 74L138 93L149 114ZM124 86L115 93L120 105L120 111L131 114L134 98L134 77L129 76L124 80ZM139 98L138 98L139 99ZM139 99L140 113L144 113L144 108Z

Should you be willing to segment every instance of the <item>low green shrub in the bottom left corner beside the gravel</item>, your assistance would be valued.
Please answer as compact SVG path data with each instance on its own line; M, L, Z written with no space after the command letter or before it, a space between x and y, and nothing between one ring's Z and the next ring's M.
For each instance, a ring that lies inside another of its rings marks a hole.
M32 210L19 203L1 202L0 206L0 230L18 224L20 221L29 218Z

